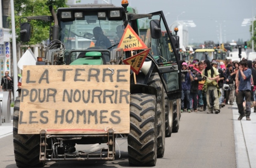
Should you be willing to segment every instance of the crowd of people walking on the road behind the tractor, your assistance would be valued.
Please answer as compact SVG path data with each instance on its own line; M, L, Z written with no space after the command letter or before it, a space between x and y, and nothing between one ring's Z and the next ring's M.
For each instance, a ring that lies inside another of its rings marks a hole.
M256 113L256 61L206 59L181 62L181 112L218 114L225 105L237 103L238 120Z

